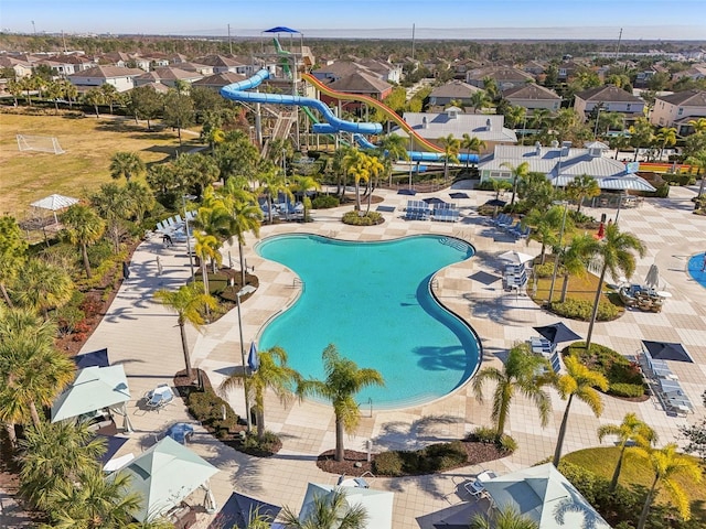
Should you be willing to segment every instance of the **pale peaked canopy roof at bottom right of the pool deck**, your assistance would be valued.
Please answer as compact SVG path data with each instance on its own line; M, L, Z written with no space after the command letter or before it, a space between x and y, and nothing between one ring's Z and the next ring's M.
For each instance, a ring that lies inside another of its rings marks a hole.
M552 463L483 481L483 486L499 508L513 506L542 529L610 529L581 493Z

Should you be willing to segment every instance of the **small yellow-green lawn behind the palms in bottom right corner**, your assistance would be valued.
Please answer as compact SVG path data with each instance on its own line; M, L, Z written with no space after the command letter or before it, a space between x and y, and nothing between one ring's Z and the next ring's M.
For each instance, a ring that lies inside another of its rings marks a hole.
M563 461L574 463L581 466L599 476L610 479L616 469L616 463L618 462L619 449L617 447L597 447L579 450L567 454L563 457ZM692 456L687 456L692 457ZM696 458L694 457L694 461ZM641 486L649 489L652 486L654 474L652 473L648 463L633 455L628 451L625 460L620 472L620 485ZM692 506L692 516L699 520L706 520L706 487L702 484L694 483L691 478L680 477L675 479L689 497ZM660 490L656 497L656 503L672 504L671 496L663 489Z

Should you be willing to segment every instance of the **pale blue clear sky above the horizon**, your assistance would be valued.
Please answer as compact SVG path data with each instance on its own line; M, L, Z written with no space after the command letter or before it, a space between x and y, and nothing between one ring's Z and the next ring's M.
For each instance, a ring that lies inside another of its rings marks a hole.
M705 40L706 0L1 0L17 33Z

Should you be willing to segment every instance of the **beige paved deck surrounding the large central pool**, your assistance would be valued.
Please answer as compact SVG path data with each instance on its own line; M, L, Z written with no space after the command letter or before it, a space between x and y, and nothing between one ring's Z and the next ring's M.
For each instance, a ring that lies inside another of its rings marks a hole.
M496 272L501 269L498 256L509 249L538 253L538 245L495 241L499 235L486 226L474 207L484 203L490 193L469 192L470 198L458 202L462 219L457 224L432 222L407 222L402 218L408 196L378 191L386 206L395 206L393 213L384 213L385 224L359 228L339 222L344 208L313 212L314 222L306 225L280 224L264 226L261 237L281 233L313 233L346 240L381 240L413 234L446 234L472 242L478 252L466 263L441 270L437 274L436 293L440 300L467 319L475 328L483 344L484 365L500 366L502 357L512 345L534 335L533 325L557 321L538 309L527 298L502 291L500 282L484 285L470 279L478 271ZM695 284L684 272L686 261L693 253L706 250L706 217L691 214L694 188L672 188L668 199L649 199L641 208L620 212L620 226L640 236L648 245L648 255L641 259L634 278L645 277L655 262L662 274L662 290L673 298L662 313L628 311L621 319L610 323L598 323L595 342L610 346L622 354L631 355L640 348L641 339L674 341L683 343L695 364L672 363L682 386L696 406L696 413L687 418L667 415L654 400L630 403L606 398L606 410L596 419L588 407L575 402L565 441L565 452L598 444L596 429L606 423L619 423L628 411L635 412L650 423L665 443L677 439L677 427L706 417L700 404L700 393L706 380L706 289ZM448 192L434 195L449 199ZM430 196L430 195L425 195ZM421 198L417 195L416 198ZM375 207L375 206L374 206ZM593 209L586 212L599 217L614 210ZM265 261L253 250L255 239L247 238L247 262L255 266L260 288L243 304L243 333L246 344L255 338L265 322L284 310L298 295L295 274L282 266ZM176 317L152 301L159 288L178 288L189 276L189 260L184 244L164 248L157 237L142 244L130 263L130 280L126 281L109 313L90 336L84 352L101 347L109 348L113 364L120 363L129 376L130 413L136 433L122 446L118 455L132 452L136 455L154 442L154 435L163 434L175 421L191 421L181 402L164 410L145 413L137 401L146 391L161 382L170 382L173 374L183 368L181 343ZM237 262L237 247L232 251ZM224 250L224 262L228 262L228 249ZM157 256L163 273L158 276ZM571 328L586 335L587 324L567 322ZM236 311L210 325L204 334L189 330L189 343L193 347L194 366L208 373L217 385L234 365L239 364L239 341ZM234 392L229 401L236 412L243 413L243 395ZM565 402L552 391L554 412L547 428L542 429L532 404L518 398L511 410L507 431L518 442L520 449L512 456L482 465L499 473L514 471L552 455ZM197 428L190 444L195 452L221 468L212 479L218 505L223 505L233 490L248 494L276 505L288 505L298 509L308 482L334 484L336 476L322 473L313 463L317 454L334 445L333 413L330 407L304 401L282 408L268 396L266 402L267 428L279 433L284 447L276 456L261 460L231 450ZM417 447L429 442L459 439L480 424L490 423L489 403L484 406L471 397L469 385L452 395L428 404L396 411L374 411L363 420L356 436L346 439L346 447L363 450L365 441L373 440L376 450L387 447ZM608 440L607 442L609 442ZM460 468L447 474L408 477L373 478L374 488L394 490L395 528L430 528L436 521L425 516L461 501L458 484L464 476L475 474L481 466ZM201 515L200 527L207 527L212 517ZM424 521L418 518L425 516Z

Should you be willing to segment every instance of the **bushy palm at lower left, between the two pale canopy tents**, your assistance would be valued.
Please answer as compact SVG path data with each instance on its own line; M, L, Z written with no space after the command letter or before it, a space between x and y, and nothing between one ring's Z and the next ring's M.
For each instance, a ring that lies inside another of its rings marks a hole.
M60 483L73 485L87 469L99 468L106 442L86 423L60 421L28 428L20 447L20 490L33 506L47 509Z

